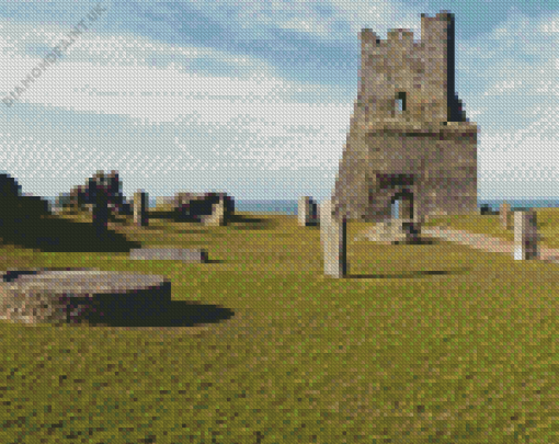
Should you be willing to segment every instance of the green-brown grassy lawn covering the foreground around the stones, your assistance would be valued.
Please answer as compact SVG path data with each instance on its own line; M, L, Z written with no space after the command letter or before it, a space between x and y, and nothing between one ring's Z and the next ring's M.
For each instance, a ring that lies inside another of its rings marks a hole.
M353 241L370 225L352 221L349 277L331 280L319 228L238 214L216 228L156 213L112 226L207 249L206 264L129 261L116 241L90 251L77 216L50 221L76 251L0 246L0 269L162 274L173 300L233 312L192 327L0 322L0 443L559 442L559 265ZM538 212L550 247L558 217ZM512 240L498 216L442 223Z

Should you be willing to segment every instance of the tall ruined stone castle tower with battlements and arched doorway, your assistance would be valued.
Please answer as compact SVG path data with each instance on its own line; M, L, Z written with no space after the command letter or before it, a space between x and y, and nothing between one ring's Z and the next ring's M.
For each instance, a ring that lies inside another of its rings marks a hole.
M380 41L363 30L360 89L332 195L340 219L477 210L477 133L455 92L454 15L421 15L421 42L407 30Z

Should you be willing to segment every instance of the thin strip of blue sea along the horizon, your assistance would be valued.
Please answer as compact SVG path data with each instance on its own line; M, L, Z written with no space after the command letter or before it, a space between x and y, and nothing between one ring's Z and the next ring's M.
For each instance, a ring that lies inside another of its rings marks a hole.
M52 204L55 203L56 197L44 197ZM559 197L549 197L540 200L478 200L478 208L481 205L489 205L491 209L498 210L499 206L506 201L512 209L515 208L543 208L543 207L559 207ZM320 201L319 201L320 203ZM250 213L278 213L287 215L297 214L297 201L235 201L235 209L239 212ZM156 206L156 198L149 197L149 206Z

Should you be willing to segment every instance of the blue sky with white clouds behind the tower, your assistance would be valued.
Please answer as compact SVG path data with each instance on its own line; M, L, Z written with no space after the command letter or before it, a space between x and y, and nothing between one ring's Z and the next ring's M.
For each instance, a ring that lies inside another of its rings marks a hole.
M559 196L557 1L0 0L0 98L104 12L11 106L0 169L55 196L98 170L125 195L331 195L357 95L358 32L456 16L456 89L479 125L478 195Z

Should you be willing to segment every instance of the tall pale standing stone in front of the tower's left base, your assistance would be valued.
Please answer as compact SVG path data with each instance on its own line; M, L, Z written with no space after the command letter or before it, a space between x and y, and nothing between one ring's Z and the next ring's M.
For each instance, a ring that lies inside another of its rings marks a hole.
M344 277L347 274L346 262L346 220L333 217L331 198L320 204L320 243L324 261L324 275Z

